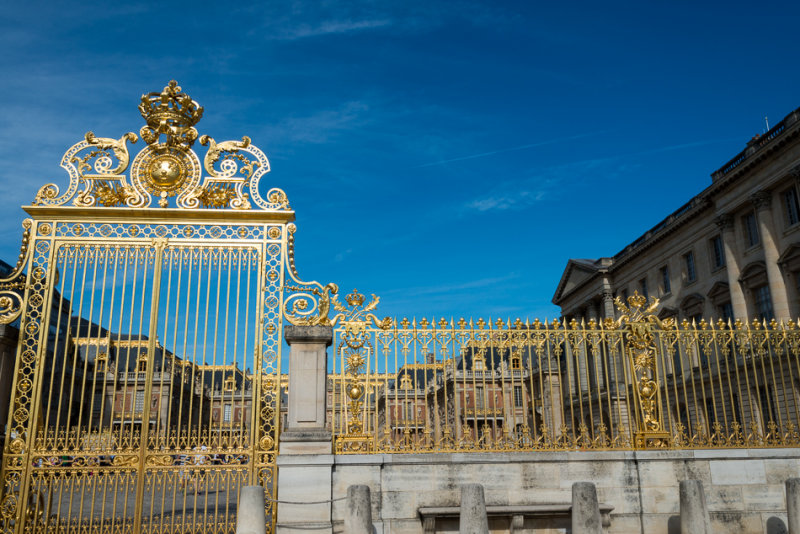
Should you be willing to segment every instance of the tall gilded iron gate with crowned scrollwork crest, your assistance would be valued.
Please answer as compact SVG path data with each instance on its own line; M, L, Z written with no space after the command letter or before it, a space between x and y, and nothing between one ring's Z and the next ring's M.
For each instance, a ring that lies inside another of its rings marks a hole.
M67 191L25 207L0 281L0 320L19 327L7 533L233 532L242 485L275 496L282 324L313 316L321 286L294 271L294 212L261 196L269 163L248 138L201 137L201 167L203 109L180 87L139 109L130 175L137 136L88 133L62 160Z

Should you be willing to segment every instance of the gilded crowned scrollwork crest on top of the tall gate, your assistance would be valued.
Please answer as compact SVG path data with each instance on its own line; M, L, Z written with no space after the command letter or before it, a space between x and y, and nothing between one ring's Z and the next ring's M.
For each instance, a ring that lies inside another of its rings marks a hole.
M200 164L192 145L203 108L175 80L161 92L142 95L139 111L147 123L140 130L147 146L132 162L126 142L138 140L134 133L117 140L89 132L61 159L70 176L66 192L60 195L55 184L47 184L34 205L62 206L71 201L80 207L147 208L155 196L162 208L247 210L255 204L262 210L291 209L282 190L269 190L266 199L259 193L269 161L247 136L216 142L203 135L200 144L209 149Z

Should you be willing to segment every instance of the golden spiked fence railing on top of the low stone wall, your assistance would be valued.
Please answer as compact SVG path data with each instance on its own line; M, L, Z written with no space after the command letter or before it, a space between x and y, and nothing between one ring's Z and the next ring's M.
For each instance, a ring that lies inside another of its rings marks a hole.
M363 298L356 302L363 303ZM798 323L343 320L337 453L800 445Z

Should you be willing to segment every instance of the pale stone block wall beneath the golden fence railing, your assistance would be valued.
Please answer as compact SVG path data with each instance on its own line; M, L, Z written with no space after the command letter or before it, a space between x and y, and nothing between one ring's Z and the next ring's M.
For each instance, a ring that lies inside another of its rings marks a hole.
M702 481L715 532L779 534L787 524L784 483L800 476L798 449L337 455L334 462L332 497L368 485L377 534L422 533L417 509L458 506L461 484L482 484L487 505L527 505L570 502L581 481L614 506L609 534L679 534L678 482L686 479ZM333 503L334 532L342 531L345 506ZM509 531L502 519L489 526ZM436 530L456 532L458 522ZM559 519L526 520L522 530L569 532Z

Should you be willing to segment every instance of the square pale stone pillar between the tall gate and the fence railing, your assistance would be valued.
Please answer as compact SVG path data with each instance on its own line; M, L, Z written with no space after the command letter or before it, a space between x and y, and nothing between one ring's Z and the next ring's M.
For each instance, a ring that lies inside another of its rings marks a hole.
M277 457L276 534L330 534L333 455L325 429L327 354L330 326L287 326L289 401Z

